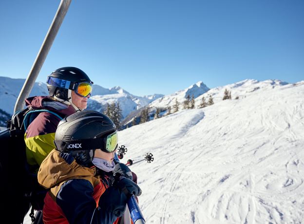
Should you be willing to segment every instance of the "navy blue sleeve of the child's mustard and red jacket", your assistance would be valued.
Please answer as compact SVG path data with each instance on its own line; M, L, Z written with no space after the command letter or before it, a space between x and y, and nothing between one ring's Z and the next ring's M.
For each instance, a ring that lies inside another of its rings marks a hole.
M84 179L72 179L61 186L56 202L70 224L112 224L117 219L107 209L95 209L93 191L92 184Z

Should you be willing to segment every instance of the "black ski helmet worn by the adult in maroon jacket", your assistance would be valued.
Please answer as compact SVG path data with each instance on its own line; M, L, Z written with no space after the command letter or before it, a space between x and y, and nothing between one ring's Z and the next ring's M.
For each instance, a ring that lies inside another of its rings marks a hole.
M71 83L79 83L79 82L90 82L93 84L91 79L87 74L85 74L82 70L75 67L62 67L51 73L49 77L56 77L60 79L64 79L70 81ZM68 90L71 88L60 88L53 86L47 81L47 88L50 96L56 96L60 100L69 100Z

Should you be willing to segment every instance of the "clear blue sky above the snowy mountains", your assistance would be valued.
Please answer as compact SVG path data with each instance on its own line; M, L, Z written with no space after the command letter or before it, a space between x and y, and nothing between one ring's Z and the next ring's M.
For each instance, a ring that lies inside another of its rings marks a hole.
M0 76L27 77L59 2L0 1ZM37 81L75 66L140 96L198 81L297 82L303 12L303 0L72 0Z

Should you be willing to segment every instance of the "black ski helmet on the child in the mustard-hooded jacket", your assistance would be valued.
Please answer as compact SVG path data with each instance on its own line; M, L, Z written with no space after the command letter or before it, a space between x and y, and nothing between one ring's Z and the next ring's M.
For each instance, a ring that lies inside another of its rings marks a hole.
M71 154L84 167L92 166L95 149L105 146L107 137L116 133L113 121L103 113L80 111L62 119L55 133L58 151ZM117 149L118 144L115 146Z

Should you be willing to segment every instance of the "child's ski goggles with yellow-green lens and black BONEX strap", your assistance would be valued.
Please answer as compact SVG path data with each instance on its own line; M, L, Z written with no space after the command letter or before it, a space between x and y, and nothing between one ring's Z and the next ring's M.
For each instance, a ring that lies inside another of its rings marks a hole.
M68 142L55 140L54 143L59 151L101 149L105 152L114 152L118 148L118 135L115 131L102 138L74 139Z

